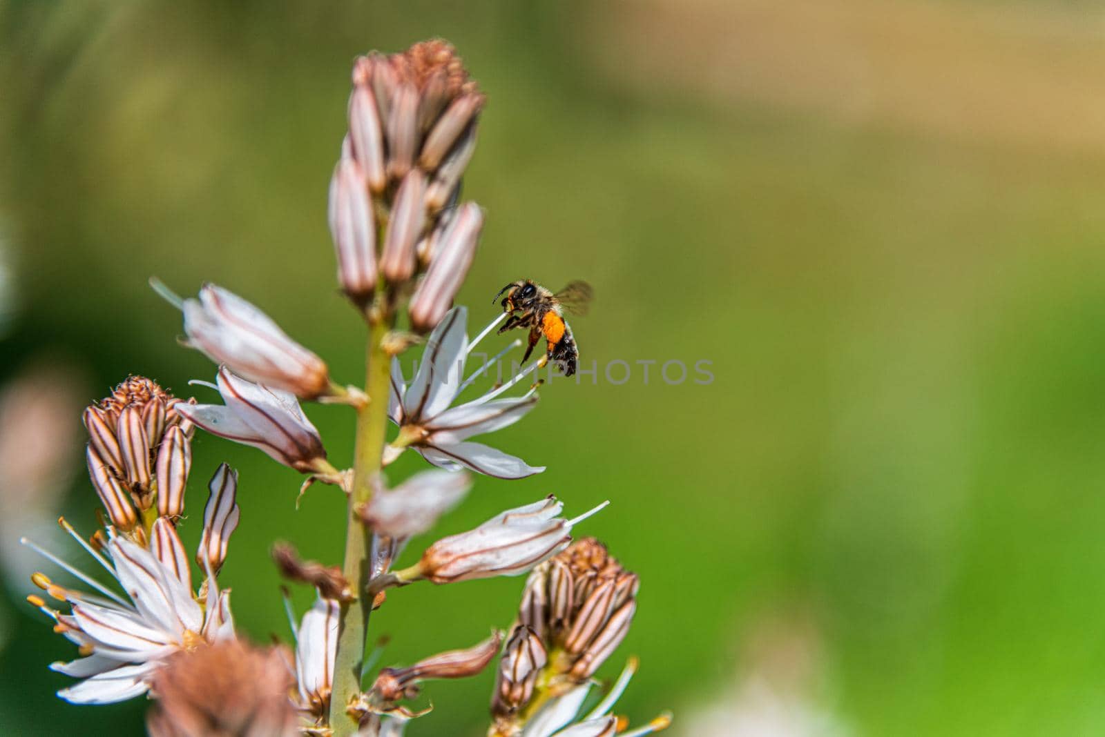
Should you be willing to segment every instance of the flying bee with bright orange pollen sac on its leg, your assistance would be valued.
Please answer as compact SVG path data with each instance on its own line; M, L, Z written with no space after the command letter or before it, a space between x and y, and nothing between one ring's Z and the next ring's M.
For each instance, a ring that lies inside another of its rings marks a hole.
M532 279L512 281L499 289L492 300L495 303L503 297L499 302L503 311L511 313L498 332L502 334L515 328L529 328L529 346L522 356L522 363L529 359L534 345L544 335L546 356L556 362L565 376L571 376L579 365L579 349L564 314L587 314L592 293L591 286L586 281L569 281L568 286L555 293Z

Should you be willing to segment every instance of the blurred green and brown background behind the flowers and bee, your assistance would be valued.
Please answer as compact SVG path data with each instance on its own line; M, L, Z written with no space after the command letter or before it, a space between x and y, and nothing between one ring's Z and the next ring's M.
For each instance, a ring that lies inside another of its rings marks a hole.
M585 363L634 365L546 387L494 442L548 470L480 479L440 532L610 499L580 533L643 583L602 674L639 654L620 711L674 708L674 734L1105 731L1097 3L0 3L0 378L63 362L84 400L129 372L204 396L156 274L241 293L357 381L325 218L349 67L431 35L490 98L460 301L482 322L508 280L586 278ZM715 381L645 384L639 360ZM347 461L349 413L308 409ZM194 451L186 542L230 461L221 579L245 632L287 639L269 545L337 562L343 500L296 511L299 478L260 451ZM59 509L90 531L65 462ZM396 592L383 662L508 624L520 585ZM139 734L140 699L53 696L73 649L30 590L0 604L0 733ZM410 734L482 734L491 684L432 685Z

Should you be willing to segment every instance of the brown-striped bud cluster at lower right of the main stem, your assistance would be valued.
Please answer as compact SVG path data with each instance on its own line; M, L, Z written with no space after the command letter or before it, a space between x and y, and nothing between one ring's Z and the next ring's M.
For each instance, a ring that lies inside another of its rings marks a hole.
M636 609L636 574L585 537L529 575L520 622L501 662L492 713L512 717L533 697L538 673L554 696L587 682L621 643Z

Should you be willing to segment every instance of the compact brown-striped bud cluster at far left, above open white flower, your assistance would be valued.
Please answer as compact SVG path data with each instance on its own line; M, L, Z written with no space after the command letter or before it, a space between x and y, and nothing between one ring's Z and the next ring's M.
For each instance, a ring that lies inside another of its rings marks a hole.
M116 528L134 530L136 508L145 512L155 498L159 516L183 512L193 431L186 408L155 382L130 376L84 410L88 476Z

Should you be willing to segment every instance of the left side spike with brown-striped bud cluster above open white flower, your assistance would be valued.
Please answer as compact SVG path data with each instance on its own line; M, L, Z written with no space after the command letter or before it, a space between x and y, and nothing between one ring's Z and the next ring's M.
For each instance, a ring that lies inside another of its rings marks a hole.
M65 588L42 573L31 578L50 597L72 606L71 613L62 613L30 597L84 655L53 666L84 679L59 692L67 701L103 704L143 694L173 654L234 639L230 592L220 591L214 580L239 516L238 474L225 463L211 480L203 511L196 560L207 575L199 596L177 533L191 466L192 424L186 415L193 408L155 382L131 376L85 410L88 471L110 522L91 543L64 519L60 524L127 598L31 541L21 541L97 591L91 596Z

